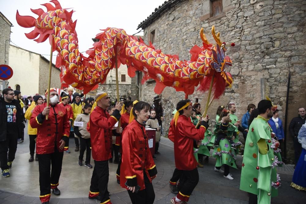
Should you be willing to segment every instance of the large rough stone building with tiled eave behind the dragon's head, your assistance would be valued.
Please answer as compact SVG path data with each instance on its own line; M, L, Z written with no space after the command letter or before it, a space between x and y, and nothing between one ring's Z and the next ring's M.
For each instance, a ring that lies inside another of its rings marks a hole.
M215 44L211 35L211 26L215 25L223 42L236 44L226 52L233 61L230 69L233 87L226 89L211 105L208 110L211 121L219 105L234 102L241 119L249 103L257 105L267 95L278 105L284 122L290 69L288 126L297 116L298 107L306 106L306 58L299 56L306 53L305 15L304 0L169 0L142 21L139 28L144 29L146 43L153 40L156 49L165 54L178 54L181 60L190 59L189 50L193 45L202 45L202 27L210 43ZM151 101L155 96L154 87L155 82L145 83L140 99ZM184 93L166 87L161 97L167 129L171 113ZM195 91L189 98L193 101L198 98L204 109L206 93ZM286 145L287 162L292 162L293 140L289 132Z

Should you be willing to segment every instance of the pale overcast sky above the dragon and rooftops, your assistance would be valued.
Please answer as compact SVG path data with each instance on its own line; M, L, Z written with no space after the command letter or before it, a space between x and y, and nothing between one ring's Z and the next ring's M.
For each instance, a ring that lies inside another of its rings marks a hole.
M26 38L24 33L29 33L34 28L23 28L16 21L17 9L22 16L28 15L37 18L38 16L32 13L30 9L42 8L47 11L40 4L48 2L48 0L0 0L0 11L13 24L11 28L11 41L13 43L23 49L46 54L44 56L49 59L49 56L47 56L50 54L49 41L36 43ZM79 50L83 52L92 47L91 38L101 32L99 29L107 27L123 28L129 35L140 31L140 29L136 30L138 24L145 20L156 7L162 5L165 0L59 0L59 2L62 8L72 8L75 11L72 19L73 21L77 20L76 32L79 40ZM143 35L143 32L137 35ZM56 55L57 52L53 54ZM86 56L85 53L83 54ZM55 56L53 58L52 61L55 62Z

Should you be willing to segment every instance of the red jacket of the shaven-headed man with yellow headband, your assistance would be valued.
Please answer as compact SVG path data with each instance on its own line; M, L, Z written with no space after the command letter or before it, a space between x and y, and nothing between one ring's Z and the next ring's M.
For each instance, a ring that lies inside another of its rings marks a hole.
M91 154L95 161L105 161L110 159L112 146L112 128L120 119L119 110L115 109L110 114L103 108L96 106L90 113L87 131L90 132Z

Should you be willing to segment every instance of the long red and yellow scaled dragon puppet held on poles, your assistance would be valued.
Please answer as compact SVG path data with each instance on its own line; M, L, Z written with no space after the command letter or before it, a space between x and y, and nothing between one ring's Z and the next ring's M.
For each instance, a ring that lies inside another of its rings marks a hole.
M76 21L71 19L73 10L69 12L62 9L57 0L50 2L55 7L50 3L42 4L47 12L43 9L31 9L39 16L37 19L21 16L17 10L17 23L25 28L35 27L25 35L37 43L49 38L53 51L58 51L56 66L61 68L62 81L84 89L84 93L106 80L107 74L114 68L116 55L119 64L121 62L128 66L130 77L135 76L136 71L141 71L144 73L143 82L149 78L154 79L154 91L157 94L169 86L190 95L199 83L199 90L206 91L211 77L215 75L215 98L218 98L225 87L231 86L233 82L231 74L226 71L232 61L225 55L226 44L221 42L219 33L215 34L214 26L212 35L216 45L207 41L202 28L200 36L203 46L194 46L190 50L190 61L180 61L176 56L164 54L151 43L147 46L142 39L127 35L125 30L119 28L106 28L97 34L96 39L99 41L86 51L89 56L85 57L79 52Z

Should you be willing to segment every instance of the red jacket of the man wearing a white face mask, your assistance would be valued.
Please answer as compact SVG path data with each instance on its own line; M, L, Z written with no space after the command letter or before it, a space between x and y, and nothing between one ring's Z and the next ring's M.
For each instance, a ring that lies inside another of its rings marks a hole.
M46 120L42 114L46 106L47 103L36 106L30 119L31 127L37 128L36 154L50 154L55 151L55 148L63 152L64 148L59 149L61 144L59 141L62 139L66 142L70 132L67 109L59 104L54 106L49 104L51 108L48 120Z

